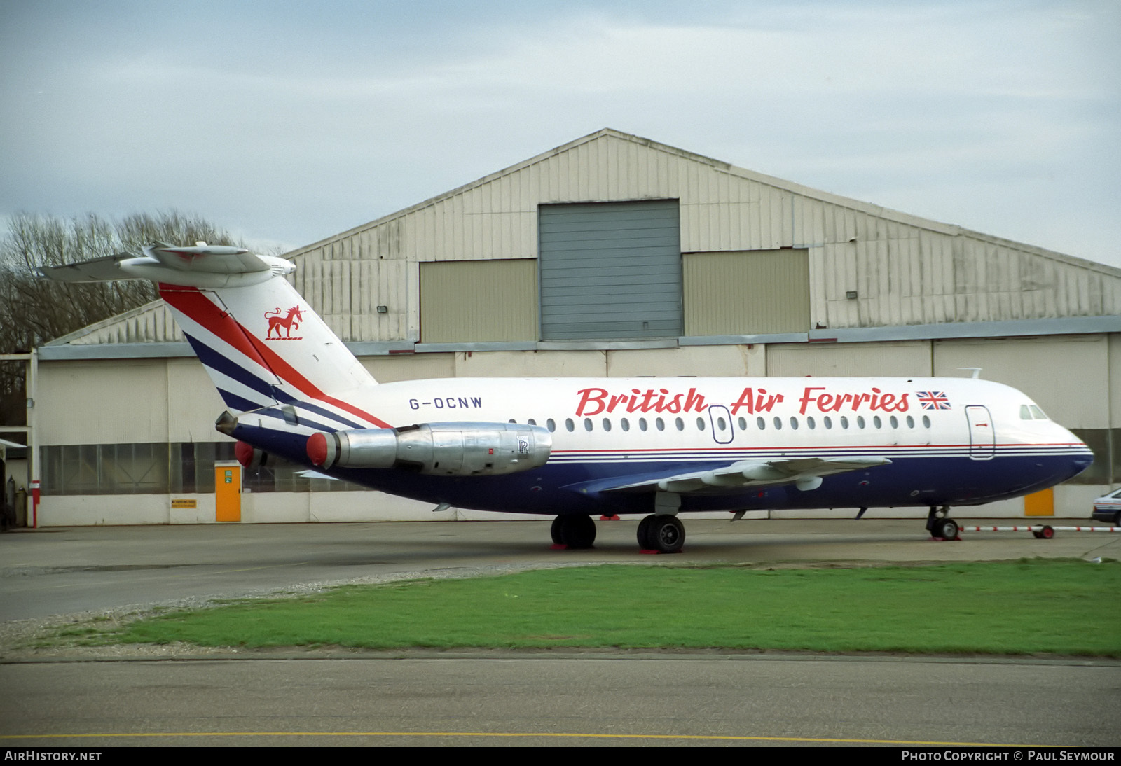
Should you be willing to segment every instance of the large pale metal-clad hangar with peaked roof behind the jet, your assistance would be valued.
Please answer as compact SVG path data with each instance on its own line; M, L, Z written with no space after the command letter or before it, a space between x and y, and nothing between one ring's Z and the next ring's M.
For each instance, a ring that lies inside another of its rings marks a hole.
M1121 270L637 136L600 130L286 258L379 381L981 368L1097 459L974 515L1086 516L1121 483ZM161 301L43 346L33 366L38 524L216 520L224 408ZM434 517L297 470L247 473L240 521Z

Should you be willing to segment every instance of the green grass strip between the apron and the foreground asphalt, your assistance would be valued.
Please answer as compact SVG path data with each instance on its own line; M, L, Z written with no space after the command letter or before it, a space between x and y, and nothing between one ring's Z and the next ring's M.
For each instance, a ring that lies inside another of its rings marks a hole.
M1121 656L1121 563L602 566L350 586L127 626L206 646L723 647Z

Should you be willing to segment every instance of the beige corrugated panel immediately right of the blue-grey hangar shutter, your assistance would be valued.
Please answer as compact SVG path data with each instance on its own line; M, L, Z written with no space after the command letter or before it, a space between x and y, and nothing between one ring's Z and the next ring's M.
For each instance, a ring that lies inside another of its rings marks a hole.
M682 261L686 335L810 328L806 250L687 253Z

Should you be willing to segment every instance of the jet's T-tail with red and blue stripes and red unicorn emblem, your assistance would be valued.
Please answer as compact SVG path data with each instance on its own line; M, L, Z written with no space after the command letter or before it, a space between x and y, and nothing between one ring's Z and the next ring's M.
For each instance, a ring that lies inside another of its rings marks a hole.
M149 279L157 283L226 405L238 412L299 402L343 427L381 421L339 394L376 381L284 278L290 261L243 247L157 243L64 267L43 277L71 282Z

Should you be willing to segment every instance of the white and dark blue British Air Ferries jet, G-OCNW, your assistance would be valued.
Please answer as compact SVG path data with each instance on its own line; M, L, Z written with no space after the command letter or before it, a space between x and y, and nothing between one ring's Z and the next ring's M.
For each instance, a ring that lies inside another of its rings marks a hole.
M1026 495L1093 454L1026 395L971 379L447 379L379 385L285 277L241 247L155 244L45 268L81 282L149 279L228 411L238 459L270 456L373 489L555 515L587 548L593 515L642 514L674 552L679 513L914 506L954 539L954 505Z

